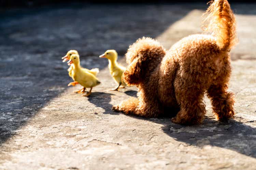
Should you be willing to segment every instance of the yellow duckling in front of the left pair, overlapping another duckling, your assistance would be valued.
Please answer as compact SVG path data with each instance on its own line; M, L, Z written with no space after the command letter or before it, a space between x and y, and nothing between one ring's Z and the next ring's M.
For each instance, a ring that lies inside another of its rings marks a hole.
M83 96L90 96L91 94L91 89L93 87L97 86L100 84L100 81L95 77L95 75L91 74L90 72L84 70L80 66L80 59L78 54L72 54L70 56L70 60L68 61L68 65L72 64L72 69L70 71L70 77L74 80L74 82L71 82L68 84L68 86L73 85L75 86L76 84L81 84L84 86L82 90L76 91L79 93L84 93L85 88L90 87L90 91L87 92L86 95Z

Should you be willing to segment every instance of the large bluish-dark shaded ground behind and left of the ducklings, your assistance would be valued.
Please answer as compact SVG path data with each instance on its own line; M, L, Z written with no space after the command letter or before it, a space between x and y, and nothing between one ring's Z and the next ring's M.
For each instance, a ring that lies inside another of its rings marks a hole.
M146 6L143 11L142 5L66 4L22 15L6 12L0 21L1 140L67 88L68 66L60 58L68 50L79 51L84 67L101 69L108 61L98 56L105 50L117 49L122 57L137 37L156 37L191 10Z

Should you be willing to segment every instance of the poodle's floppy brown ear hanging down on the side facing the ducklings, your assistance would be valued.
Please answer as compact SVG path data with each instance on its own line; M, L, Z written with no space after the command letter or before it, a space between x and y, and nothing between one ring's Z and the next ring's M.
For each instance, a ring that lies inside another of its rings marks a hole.
M128 86L137 85L142 78L140 57L135 58L123 73L122 79Z

